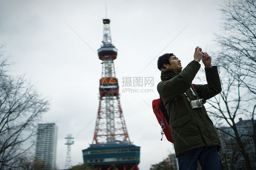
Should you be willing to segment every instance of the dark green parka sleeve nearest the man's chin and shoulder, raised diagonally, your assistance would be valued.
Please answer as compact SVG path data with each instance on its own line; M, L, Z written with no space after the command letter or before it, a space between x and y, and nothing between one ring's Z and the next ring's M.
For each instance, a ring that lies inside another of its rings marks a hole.
M182 70L179 75L168 81L161 81L157 87L160 96L167 101L174 100L191 86L192 80L200 69L200 64L193 60Z

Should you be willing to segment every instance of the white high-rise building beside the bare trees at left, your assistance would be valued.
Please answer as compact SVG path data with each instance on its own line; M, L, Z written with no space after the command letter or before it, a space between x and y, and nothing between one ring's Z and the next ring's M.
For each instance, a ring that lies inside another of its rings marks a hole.
M43 161L43 170L56 169L58 127L55 123L38 124L36 158Z

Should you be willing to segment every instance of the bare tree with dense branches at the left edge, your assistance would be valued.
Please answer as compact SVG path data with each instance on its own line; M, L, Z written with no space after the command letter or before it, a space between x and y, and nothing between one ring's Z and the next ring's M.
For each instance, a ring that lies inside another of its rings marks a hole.
M0 169L18 166L20 156L31 149L23 146L36 135L37 120L49 108L48 100L41 98L24 77L7 74L10 65L0 53Z

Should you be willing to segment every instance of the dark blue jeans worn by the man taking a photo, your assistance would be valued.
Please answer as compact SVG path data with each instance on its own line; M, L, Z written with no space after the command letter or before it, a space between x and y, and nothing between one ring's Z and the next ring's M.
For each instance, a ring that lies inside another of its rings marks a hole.
M205 146L177 155L179 170L196 170L199 161L202 170L220 170L217 146Z

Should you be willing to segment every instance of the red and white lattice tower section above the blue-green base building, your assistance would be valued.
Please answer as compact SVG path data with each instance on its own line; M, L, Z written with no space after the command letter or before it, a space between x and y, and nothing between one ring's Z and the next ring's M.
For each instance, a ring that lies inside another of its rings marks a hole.
M99 59L102 60L102 78L100 79L99 108L92 144L110 141L130 143L120 105L118 79L114 68L118 50L112 44L109 23L109 19L103 19L103 44L98 49Z

